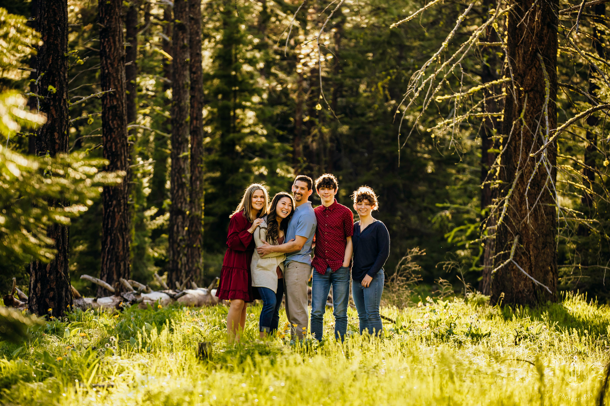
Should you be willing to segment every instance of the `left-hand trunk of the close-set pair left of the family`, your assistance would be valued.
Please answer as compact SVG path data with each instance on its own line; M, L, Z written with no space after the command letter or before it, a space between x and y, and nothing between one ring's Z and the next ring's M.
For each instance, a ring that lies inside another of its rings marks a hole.
M168 285L185 279L188 211L189 62L188 1L174 1L171 90L171 206Z

